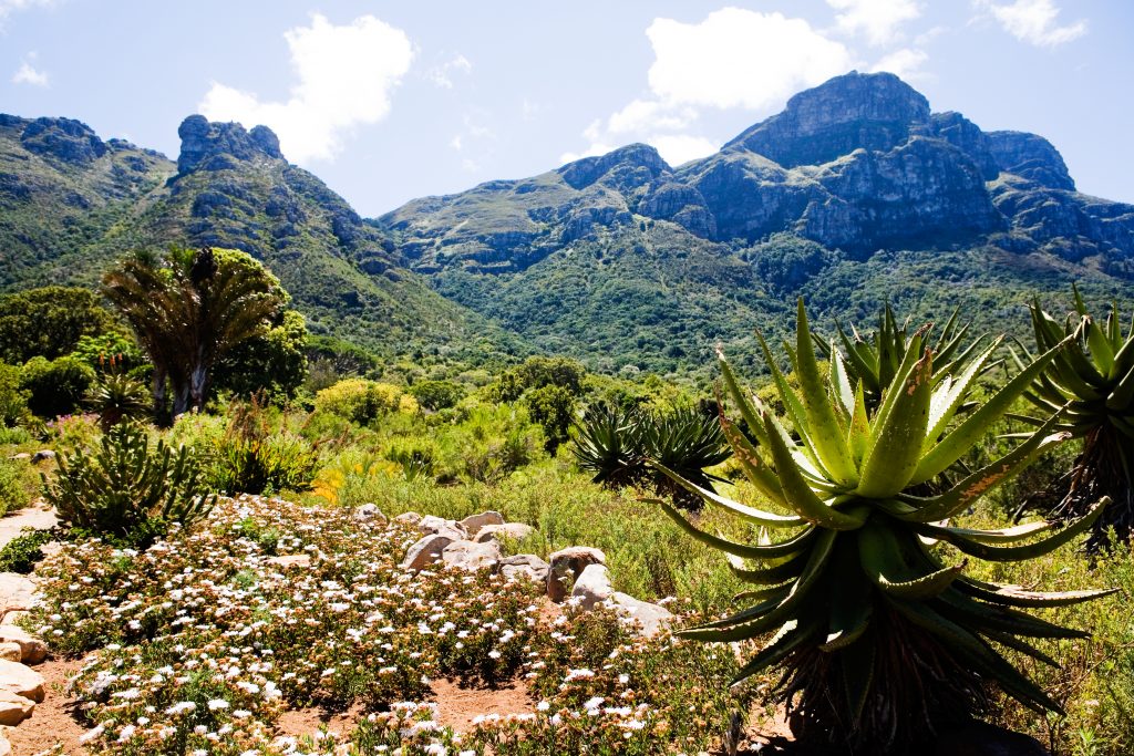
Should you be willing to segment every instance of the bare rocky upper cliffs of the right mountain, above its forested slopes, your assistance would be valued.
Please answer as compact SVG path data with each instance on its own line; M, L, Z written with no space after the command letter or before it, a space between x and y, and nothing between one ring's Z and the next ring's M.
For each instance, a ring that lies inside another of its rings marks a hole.
M985 133L960 113L932 113L892 74L850 73L677 171L652 147L631 145L533 179L416 201L379 223L430 273L523 270L648 222L734 246L786 231L856 257L992 243L1068 260L1134 258L1131 206L1074 188L1047 139Z

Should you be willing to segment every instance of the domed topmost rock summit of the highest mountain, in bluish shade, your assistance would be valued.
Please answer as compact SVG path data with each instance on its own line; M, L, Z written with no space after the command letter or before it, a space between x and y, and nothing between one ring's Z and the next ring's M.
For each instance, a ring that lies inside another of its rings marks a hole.
M892 150L929 119L929 101L894 74L852 71L795 95L723 150L755 152L786 168L818 165L857 148Z

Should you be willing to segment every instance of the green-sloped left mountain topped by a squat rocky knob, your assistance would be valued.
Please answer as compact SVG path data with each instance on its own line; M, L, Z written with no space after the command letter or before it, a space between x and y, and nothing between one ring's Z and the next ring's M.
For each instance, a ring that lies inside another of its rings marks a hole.
M3 288L92 284L138 247L226 246L276 273L315 333L388 355L518 343L406 270L388 236L290 164L270 129L191 116L178 135L174 163L78 121L0 116Z

